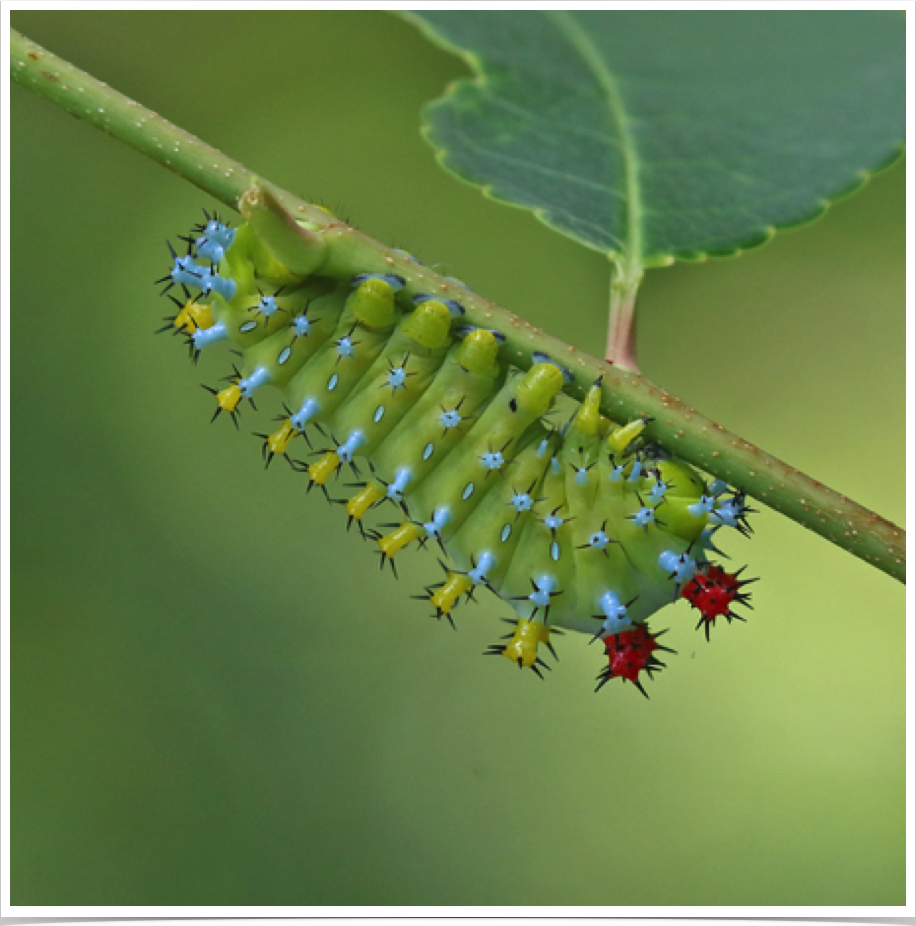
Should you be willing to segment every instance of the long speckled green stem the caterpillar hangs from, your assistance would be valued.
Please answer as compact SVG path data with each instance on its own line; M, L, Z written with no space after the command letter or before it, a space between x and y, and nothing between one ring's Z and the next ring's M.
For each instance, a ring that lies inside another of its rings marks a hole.
M146 154L233 209L239 208L240 200L257 180L242 164L14 30L11 30L10 66L17 83ZM302 241L303 247L308 247L310 237L322 239L319 243L326 254L322 258L326 271L386 269L394 262L391 249L323 210L272 184L257 180L257 185L320 233L305 235ZM428 268L422 268L413 274L408 289L411 288L417 292L436 289L448 294L454 286ZM553 357L570 370L572 382L567 392L579 398L602 377L602 407L610 417L618 421L654 418L647 432L661 446L888 575L905 581L906 534L890 521L730 434L619 363L599 360L564 344L480 296L462 291L460 298L470 323L498 329L506 335L503 349L512 363L522 368L530 366L536 351Z

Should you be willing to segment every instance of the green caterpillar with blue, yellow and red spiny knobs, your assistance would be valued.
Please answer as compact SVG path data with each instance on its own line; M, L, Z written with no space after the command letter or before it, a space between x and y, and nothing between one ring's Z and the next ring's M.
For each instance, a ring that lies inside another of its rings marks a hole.
M604 644L596 690L619 678L644 695L672 652L655 612L685 599L707 640L718 618L743 620L753 580L710 555L721 528L749 533L746 500L648 441L650 419L611 421L595 383L557 420L568 371L545 355L512 367L503 334L465 322L463 283L449 280L458 298L407 285L420 265L406 252L392 251L401 271L343 247L316 260L297 250L308 223L276 208L237 227L204 218L184 253L169 244L156 282L175 311L160 330L195 362L220 343L240 354L227 385L205 386L214 419L238 427L258 390L282 392L279 426L257 434L265 465L284 458L341 506L383 568L396 575L408 546L435 551L442 575L414 596L435 617L454 627L459 604L490 592L515 617L487 654L543 678L541 647L555 658L553 636L578 631ZM342 474L354 490L333 497Z

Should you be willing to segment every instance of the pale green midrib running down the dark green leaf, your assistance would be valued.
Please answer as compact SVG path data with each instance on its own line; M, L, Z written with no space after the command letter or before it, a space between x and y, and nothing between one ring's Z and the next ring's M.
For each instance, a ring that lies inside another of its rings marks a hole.
M620 88L614 75L607 69L598 49L568 13L562 10L547 10L544 15L553 21L564 38L582 57L601 91L602 100L610 114L611 124L617 130L626 190L625 253L622 253L620 258L625 264L626 276L631 278L639 276L643 257L643 204L639 177L639 154Z

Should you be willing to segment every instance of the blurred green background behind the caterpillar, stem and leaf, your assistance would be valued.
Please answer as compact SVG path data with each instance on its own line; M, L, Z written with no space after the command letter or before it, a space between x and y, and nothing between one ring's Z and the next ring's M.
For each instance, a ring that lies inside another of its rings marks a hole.
M12 24L264 176L537 325L604 343L608 268L445 174L460 61L383 13L25 13ZM152 332L212 201L12 91L14 904L904 902L904 588L768 511L755 610L685 603L647 702L584 637L482 659L338 510L208 425ZM644 372L904 519L902 167L740 259L653 272ZM268 409L270 411L270 409Z

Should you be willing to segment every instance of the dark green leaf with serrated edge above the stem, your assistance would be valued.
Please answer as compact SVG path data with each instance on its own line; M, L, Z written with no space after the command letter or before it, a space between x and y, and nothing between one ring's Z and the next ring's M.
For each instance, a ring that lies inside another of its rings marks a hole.
M425 110L442 163L606 252L628 289L816 217L902 148L895 12L405 15L478 75Z

